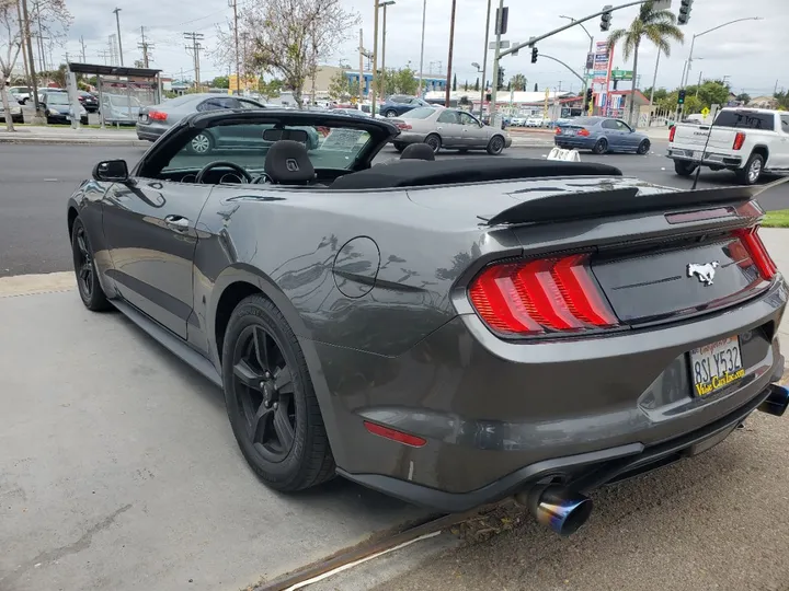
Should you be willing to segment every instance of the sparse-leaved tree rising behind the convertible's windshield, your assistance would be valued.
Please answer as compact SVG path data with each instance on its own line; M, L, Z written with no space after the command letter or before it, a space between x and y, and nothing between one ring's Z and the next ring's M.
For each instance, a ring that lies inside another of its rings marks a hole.
M331 57L359 21L342 0L251 0L239 13L244 70L278 76L301 107L318 60ZM235 62L232 34L231 26L217 31L211 57L218 65Z

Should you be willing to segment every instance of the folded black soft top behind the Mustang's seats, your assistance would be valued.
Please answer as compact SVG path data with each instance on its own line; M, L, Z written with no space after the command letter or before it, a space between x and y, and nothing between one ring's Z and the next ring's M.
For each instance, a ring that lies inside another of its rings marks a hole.
M453 158L437 162L402 160L346 174L334 181L330 188L352 190L420 187L546 176L622 176L622 173L607 164L533 158Z

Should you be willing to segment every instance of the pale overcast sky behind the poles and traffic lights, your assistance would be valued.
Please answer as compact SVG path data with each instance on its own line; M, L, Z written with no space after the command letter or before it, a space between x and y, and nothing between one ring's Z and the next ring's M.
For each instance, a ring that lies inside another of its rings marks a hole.
M253 0L239 0L239 5ZM568 21L560 14L580 18L598 10L611 0L562 0L552 2L545 0L507 0L510 9L510 31L505 38L514 42L526 40L530 36L541 35L557 28ZM616 3L616 2L613 2ZM83 36L88 61L104 63L101 51L107 48L107 36L115 33L115 15L106 0L67 0L67 4L75 15L75 25L69 31L69 43L66 49L71 56L79 55L79 38ZM374 0L344 0L348 10L358 12L362 16L361 26L364 28L365 46L370 47L373 39L373 5ZM679 0L673 1L676 12ZM420 35L422 30L423 0L397 0L388 9L387 23L387 67L401 67L411 63L419 69ZM493 0L493 5L498 1ZM121 26L123 35L124 61L132 65L140 59L141 53L137 48L140 42L140 26L146 27L146 34L156 48L152 51L151 67L160 68L167 74L180 77L183 68L190 78L192 58L184 49L184 32L198 32L205 35L204 45L215 47L216 25L224 24L231 15L227 0L118 0L117 7L122 9ZM517 8L516 8L517 7ZM454 72L458 82L465 80L473 83L479 76L471 62L482 62L485 0L457 0L457 16L455 27L455 58ZM427 0L427 19L425 25L425 73L432 68L433 72L445 73L448 58L450 0ZM492 11L494 13L495 10ZM638 9L626 9L614 13L611 28L626 27ZM694 33L701 33L708 28L734 19L745 16L762 16L763 21L745 21L729 25L719 31L709 33L696 40L694 68L690 80L695 83L699 72L704 78L729 77L732 88L740 92L745 90L752 95L771 94L776 81L778 88L789 88L789 68L786 62L786 23L789 22L789 0L761 0L758 2L744 2L743 0L696 0L693 8L690 23L682 27L687 37L685 45L676 44L672 48L668 59L661 57L658 72L658 85L675 88L679 83L683 63L690 48L690 38ZM493 18L492 18L493 19ZM597 40L604 39L599 31L599 20L595 19L586 24L588 32ZM588 37L581 27L573 27L562 32L538 45L541 54L553 56L581 71L588 49ZM352 66L358 65L358 27L348 31L348 40L335 55L327 59L328 63L338 65L344 60ZM617 48L618 49L618 48ZM62 49L56 49L55 59L62 59ZM60 56L57 54L61 53ZM492 55L492 53L491 53ZM489 71L490 71L489 55ZM647 43L639 58L639 72L642 74L641 86L650 86L654 73L656 51ZM73 58L72 58L73 59ZM431 65L431 62L433 62ZM522 51L519 56L502 59L506 78L515 73L523 73L529 82L529 89L538 83L540 90L546 85L558 86L562 90L580 90L581 82L571 72L560 65L548 59L540 59L531 63L530 54ZM617 51L614 66L630 69L631 63L625 61ZM202 78L210 79L225 74L227 70L217 67L205 57L202 61ZM490 73L488 74L490 79Z

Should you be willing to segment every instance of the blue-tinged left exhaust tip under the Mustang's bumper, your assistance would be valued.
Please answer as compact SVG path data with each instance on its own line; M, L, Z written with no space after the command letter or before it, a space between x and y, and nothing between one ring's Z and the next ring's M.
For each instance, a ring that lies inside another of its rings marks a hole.
M538 486L518 493L515 500L526 506L539 523L559 535L575 533L592 514L592 499L561 486Z

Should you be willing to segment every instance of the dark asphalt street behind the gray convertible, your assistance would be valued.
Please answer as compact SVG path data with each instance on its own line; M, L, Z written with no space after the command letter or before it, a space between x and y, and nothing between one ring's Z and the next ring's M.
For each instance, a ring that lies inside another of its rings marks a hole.
M662 157L665 143L654 142L654 152L645 157L630 154L595 157L584 153L583 161L598 161L620 167L625 174L644 181L689 188L691 181L673 172L672 162ZM71 266L65 206L68 196L90 176L99 160L139 160L142 148L93 146L22 146L0 143L0 277L67 270ZM542 158L548 148L514 148L508 157ZM378 160L398 158L388 149ZM442 158L459 158L448 153ZM482 160L491 157L480 155ZM702 172L699 187L731 186L731 173ZM789 185L765 194L767 210L789 208Z

